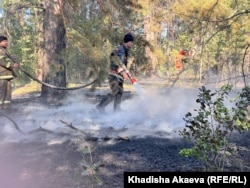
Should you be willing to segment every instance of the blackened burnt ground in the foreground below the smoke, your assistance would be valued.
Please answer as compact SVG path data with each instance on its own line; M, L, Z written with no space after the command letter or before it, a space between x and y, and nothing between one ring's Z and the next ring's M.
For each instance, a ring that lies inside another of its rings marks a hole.
M27 105L31 100L18 99L13 103ZM8 115L13 117L19 110ZM30 134L35 138L32 141L1 142L1 188L122 188L125 171L203 171L198 161L178 154L180 149L189 146L179 138L148 136L84 140L83 135L78 134L61 143L49 144L43 138L48 135L65 137L65 134L55 135L44 130ZM1 138L4 135L0 129ZM250 133L236 134L233 143L238 146L237 153L229 157L224 171L250 171ZM83 152L86 148L90 153ZM100 164L99 170L93 170L91 164ZM83 166L88 166L92 175L85 176ZM98 179L102 185L97 184Z

